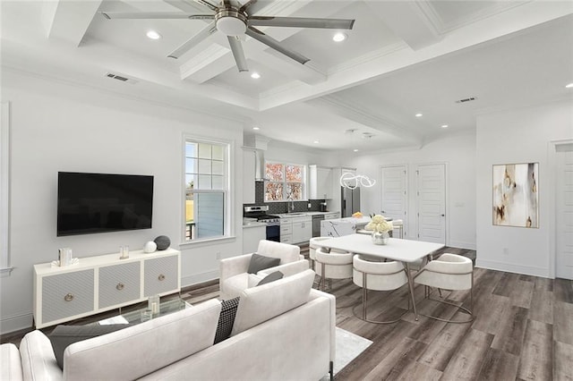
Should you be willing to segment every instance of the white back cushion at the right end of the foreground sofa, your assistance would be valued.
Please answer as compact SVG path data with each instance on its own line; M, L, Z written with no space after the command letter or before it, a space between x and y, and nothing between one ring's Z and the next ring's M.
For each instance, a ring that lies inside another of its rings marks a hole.
M231 336L304 304L309 299L314 275L314 271L309 269L244 290Z

